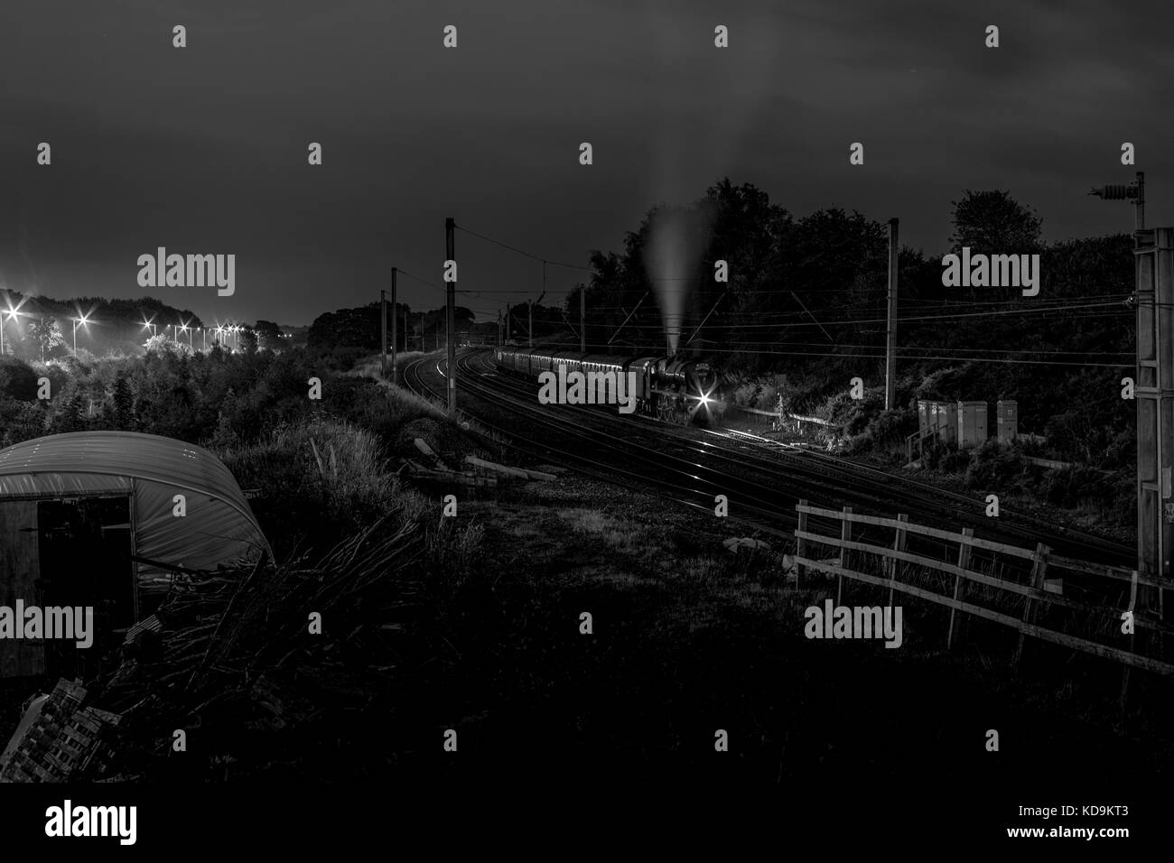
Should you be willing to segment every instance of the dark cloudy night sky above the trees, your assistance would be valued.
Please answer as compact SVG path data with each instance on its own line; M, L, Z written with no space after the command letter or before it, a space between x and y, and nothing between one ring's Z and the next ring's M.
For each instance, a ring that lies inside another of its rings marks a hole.
M446 216L585 265L722 176L798 216L897 216L931 254L966 188L1008 189L1058 241L1132 230L1086 193L1140 169L1170 224L1172 23L1104 0L4 0L0 278L301 324L378 298L392 265L439 284ZM140 288L158 245L236 254L235 296ZM457 258L481 317L541 290L539 262L459 231ZM546 302L583 275L551 267ZM444 294L405 277L400 298Z

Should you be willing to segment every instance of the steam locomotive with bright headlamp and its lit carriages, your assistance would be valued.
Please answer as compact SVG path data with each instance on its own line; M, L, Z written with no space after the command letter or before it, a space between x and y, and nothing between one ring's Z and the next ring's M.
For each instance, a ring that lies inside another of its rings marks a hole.
M508 373L537 379L545 371L583 375L634 375L635 410L677 425L716 425L726 411L723 377L709 362L682 357L613 357L601 353L544 348L493 349L497 366ZM589 378L592 379L592 378Z

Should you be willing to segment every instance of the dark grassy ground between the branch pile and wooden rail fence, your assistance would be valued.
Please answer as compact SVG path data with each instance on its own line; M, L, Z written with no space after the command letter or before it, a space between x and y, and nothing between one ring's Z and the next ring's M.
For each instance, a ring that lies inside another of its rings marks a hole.
M836 596L834 580L798 589L785 548L734 555L721 540L737 528L655 498L562 479L463 504L460 522L485 534L475 566L444 591L461 660L437 721L459 722L465 755L438 753L430 769L769 784L864 770L882 784L967 775L989 786L1170 763L1160 729L1142 744L1141 717L1132 736L1114 726L1119 666L1066 663L1030 642L1017 679L1006 632L976 625L950 654L942 609L912 599L900 602L898 649L808 640L803 612ZM846 604L885 600L844 587ZM990 728L1003 761L983 760ZM717 729L728 757L714 750ZM1088 741L1097 756L1077 757Z

